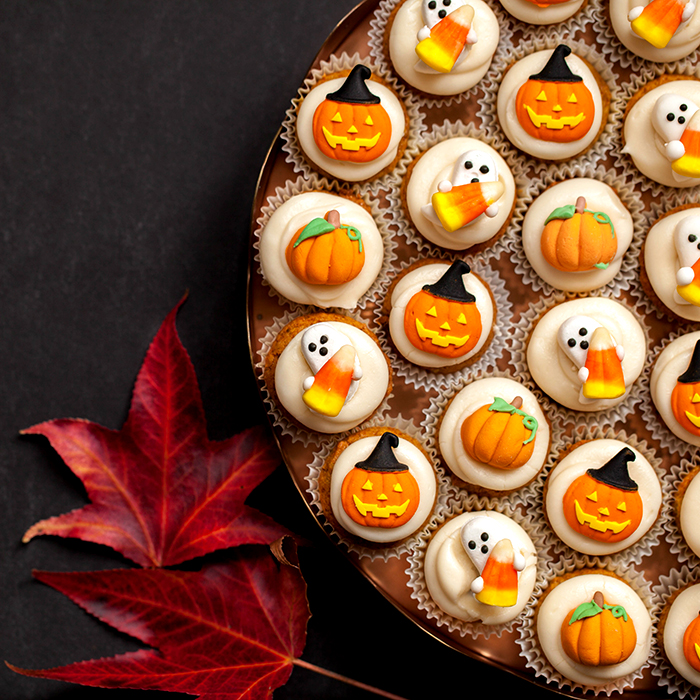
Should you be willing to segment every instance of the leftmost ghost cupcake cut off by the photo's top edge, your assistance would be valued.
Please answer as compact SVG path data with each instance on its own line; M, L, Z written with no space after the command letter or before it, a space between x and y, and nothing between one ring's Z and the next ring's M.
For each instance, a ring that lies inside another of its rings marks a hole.
M498 19L483 0L403 0L389 17L384 50L408 85L447 96L484 77L498 39Z

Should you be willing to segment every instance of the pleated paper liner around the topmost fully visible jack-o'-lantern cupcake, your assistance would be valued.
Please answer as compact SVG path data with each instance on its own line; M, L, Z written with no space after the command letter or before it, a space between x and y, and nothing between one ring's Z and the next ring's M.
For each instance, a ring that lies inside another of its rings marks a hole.
M614 67L607 63L605 59L597 52L597 46L590 46L589 44L580 40L572 40L572 38L568 36L566 32L559 32L555 26L553 28L549 28L544 34L538 34L535 36L528 34L523 41L513 48L509 65L514 64L521 58L535 53L536 51L554 49L560 43L565 43L571 49L572 53L577 55L579 58L584 59L591 66L593 66L610 90L610 107L608 118L603 125L598 138L586 149L584 153L575 156L574 158L566 159L566 165L569 167L572 165L584 164L589 164L590 166L595 167L607 156L608 152L610 151L615 127L613 115L619 109L619 89L617 86L618 75L613 70ZM497 86L500 85L502 78L503 73L496 77L495 83ZM501 149L505 147L516 150L520 157L524 159L524 162L531 167L538 176L540 176L542 172L550 172L552 177L557 179L557 173L561 170L561 163L540 160L534 156L518 151L515 149L515 146L511 144L499 123L498 109L496 107L497 97L497 89L489 92L482 100L481 109L478 112L478 116L481 119L484 128L493 135L495 143L498 144L496 150L498 150L498 152L501 154L504 153L504 151Z

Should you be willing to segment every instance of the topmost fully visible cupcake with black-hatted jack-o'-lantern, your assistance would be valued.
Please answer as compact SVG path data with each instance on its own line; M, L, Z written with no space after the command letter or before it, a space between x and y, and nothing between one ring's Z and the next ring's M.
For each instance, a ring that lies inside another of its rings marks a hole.
M510 66L498 89L498 120L510 142L545 161L587 151L608 117L610 91L598 73L560 44Z

